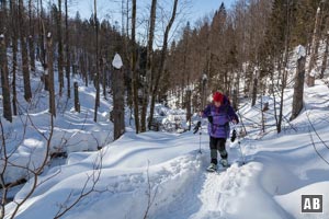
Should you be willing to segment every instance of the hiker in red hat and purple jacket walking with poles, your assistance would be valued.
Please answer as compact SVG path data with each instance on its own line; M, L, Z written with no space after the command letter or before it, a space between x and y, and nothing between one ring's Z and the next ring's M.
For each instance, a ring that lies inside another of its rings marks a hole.
M213 94L213 103L208 104L204 111L201 112L203 118L208 118L208 134L211 137L211 165L208 171L217 170L217 150L222 157L220 164L224 168L228 166L227 151L225 149L226 139L229 138L229 122L234 124L239 123L239 118L231 107L227 96L220 92Z

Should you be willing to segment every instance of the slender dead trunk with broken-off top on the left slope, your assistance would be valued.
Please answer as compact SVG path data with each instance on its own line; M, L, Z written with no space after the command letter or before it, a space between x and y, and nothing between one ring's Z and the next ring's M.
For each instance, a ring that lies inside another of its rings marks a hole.
M56 117L55 107L55 89L54 89L54 65L53 65L53 39L52 33L47 34L47 71L48 71L48 88L49 88L49 113Z

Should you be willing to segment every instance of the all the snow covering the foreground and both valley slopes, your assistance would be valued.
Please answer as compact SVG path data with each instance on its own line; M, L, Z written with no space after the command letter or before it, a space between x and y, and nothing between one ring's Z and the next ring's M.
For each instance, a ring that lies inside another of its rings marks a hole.
M287 66L290 78L295 61L305 55L304 47L296 49ZM122 67L118 59L113 60L115 68ZM144 218L149 200L154 201L148 218L157 219L329 218L329 173L325 162L329 161L326 147L329 141L329 89L325 81L316 80L314 88L305 88L304 110L293 122L288 122L293 102L293 83L288 82L283 96L283 131L279 135L273 117L273 96L261 96L253 107L243 104L239 115L248 135L238 140L238 140L228 141L232 165L214 174L205 172L209 164L206 119L203 120L202 135L193 135L193 130L136 135L132 127L127 127L125 135L112 142L113 126L109 120L112 100L101 99L99 119L94 123L94 88L84 87L79 77L72 81L79 83L81 113L75 112L71 100L56 95L57 117L50 143L50 152L64 151L68 158L49 163L39 175L35 192L15 218L54 218L77 200L81 192L89 192L93 186L94 191L61 218ZM21 88L22 82L19 78ZM32 79L32 88L36 95L31 104L19 95L20 115L12 124L2 120L13 164L8 166L7 182L31 177L18 165L37 169L45 158L47 141L43 135L47 137L49 134L50 123L48 95L39 92L42 83L36 78ZM171 103L177 102L177 96L171 97ZM265 132L261 131L261 99L269 103L269 111L264 112ZM155 112L155 117L163 126L181 125L182 129L186 126L183 110L157 104ZM128 120L129 112L125 113ZM200 118L194 116L193 119ZM243 132L241 125L236 128L238 134ZM102 149L97 150L98 146ZM198 153L200 146L202 153ZM242 160L247 161L245 165L241 165ZM20 203L30 193L33 180L11 189L10 197ZM302 194L324 195L324 212L300 214ZM9 203L4 218L10 218L14 208L15 203Z

